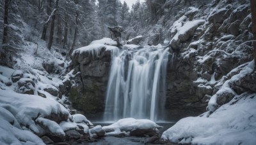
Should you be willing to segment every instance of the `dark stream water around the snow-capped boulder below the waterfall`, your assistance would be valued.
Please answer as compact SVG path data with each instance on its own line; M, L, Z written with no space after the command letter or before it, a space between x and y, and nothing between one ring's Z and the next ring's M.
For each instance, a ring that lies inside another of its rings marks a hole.
M101 125L106 126L110 125L107 123L93 123L94 125ZM159 129L160 136L163 134L165 130L172 127L175 123L157 123L157 125L163 126L163 128ZM147 142L149 137L104 137L102 139L98 139L97 142L83 142L83 144L88 145L136 145L136 144L145 144Z

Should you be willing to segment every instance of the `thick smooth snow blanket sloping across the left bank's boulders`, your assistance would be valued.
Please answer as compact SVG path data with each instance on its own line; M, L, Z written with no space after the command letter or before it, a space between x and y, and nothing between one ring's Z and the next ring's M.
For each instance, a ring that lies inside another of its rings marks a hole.
M68 111L55 100L45 99L36 95L26 95L13 92L12 90L0 90L0 106L10 104L12 114L22 126L29 125L33 132L41 132L33 118L50 116L54 114L67 114Z

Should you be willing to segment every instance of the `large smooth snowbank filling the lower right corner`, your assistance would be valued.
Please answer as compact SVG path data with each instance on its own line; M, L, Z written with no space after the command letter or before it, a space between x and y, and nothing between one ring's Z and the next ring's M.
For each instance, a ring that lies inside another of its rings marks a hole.
M166 130L161 139L192 144L255 144L255 96L252 94L231 105L233 99L209 118L184 118Z

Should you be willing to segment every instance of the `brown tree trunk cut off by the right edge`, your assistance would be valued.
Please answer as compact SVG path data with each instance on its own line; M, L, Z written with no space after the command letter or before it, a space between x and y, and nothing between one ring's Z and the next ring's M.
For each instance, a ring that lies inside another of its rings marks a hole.
M256 1L251 1L251 13L252 13L252 33L253 33L253 59L255 64L255 70L256 70Z

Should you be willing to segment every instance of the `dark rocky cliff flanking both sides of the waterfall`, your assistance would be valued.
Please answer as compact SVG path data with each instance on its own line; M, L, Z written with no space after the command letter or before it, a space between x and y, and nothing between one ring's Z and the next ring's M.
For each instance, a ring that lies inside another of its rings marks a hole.
M168 21L172 25L163 27L168 30L171 52L163 105L167 118L176 120L204 113L225 78L238 73L228 72L253 59L253 36L249 1L180 1L175 6L170 3L164 4L166 15L159 20L161 23L172 18ZM73 53L73 67L81 72L69 95L76 109L86 113L104 111L111 65L111 51L106 48L110 45L97 48L94 54ZM239 85L232 86L241 90ZM220 96L225 98L221 104L234 97L227 93Z

